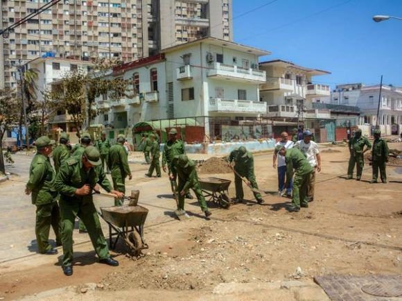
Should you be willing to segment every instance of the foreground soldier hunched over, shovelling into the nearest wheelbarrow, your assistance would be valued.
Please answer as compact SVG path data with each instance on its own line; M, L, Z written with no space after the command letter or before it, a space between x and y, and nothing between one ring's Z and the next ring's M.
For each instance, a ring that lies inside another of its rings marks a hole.
M123 193L112 190L101 164L99 151L94 146L87 146L82 155L71 157L62 164L55 179L62 213L62 268L67 276L73 274L73 227L76 216L85 223L99 262L119 266L119 262L110 258L91 192L98 191L100 185L118 198L123 197Z

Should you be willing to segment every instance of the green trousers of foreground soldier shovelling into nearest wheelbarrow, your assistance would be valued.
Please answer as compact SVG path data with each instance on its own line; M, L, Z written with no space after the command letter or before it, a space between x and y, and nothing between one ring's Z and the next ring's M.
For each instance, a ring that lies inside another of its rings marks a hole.
M73 264L73 228L76 216L87 227L92 245L99 259L109 257L109 249L103 236L102 228L94 203L91 200L60 200L60 211L62 214L62 245L63 245L63 266Z

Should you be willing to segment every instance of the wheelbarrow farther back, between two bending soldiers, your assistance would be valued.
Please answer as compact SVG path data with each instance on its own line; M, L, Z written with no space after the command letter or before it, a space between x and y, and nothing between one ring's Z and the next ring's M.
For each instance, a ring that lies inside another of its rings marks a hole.
M228 189L231 181L220 178L200 178L200 187L205 198L222 208L228 209L231 205Z

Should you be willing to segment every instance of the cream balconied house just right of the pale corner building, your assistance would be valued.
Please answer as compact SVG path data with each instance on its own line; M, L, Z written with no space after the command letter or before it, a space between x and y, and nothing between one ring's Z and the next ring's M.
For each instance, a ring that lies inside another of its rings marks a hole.
M260 86L260 99L268 103L268 117L296 118L303 107L324 103L329 99L329 85L313 84L313 76L330 74L328 71L295 65L285 60L261 62L267 80Z

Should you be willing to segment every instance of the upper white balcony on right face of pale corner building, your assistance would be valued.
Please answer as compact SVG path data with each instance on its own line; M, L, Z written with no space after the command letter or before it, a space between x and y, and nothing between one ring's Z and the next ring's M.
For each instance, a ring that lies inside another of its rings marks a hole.
M253 83L265 83L266 79L265 71L224 65L220 62L213 63L208 70L207 76Z

